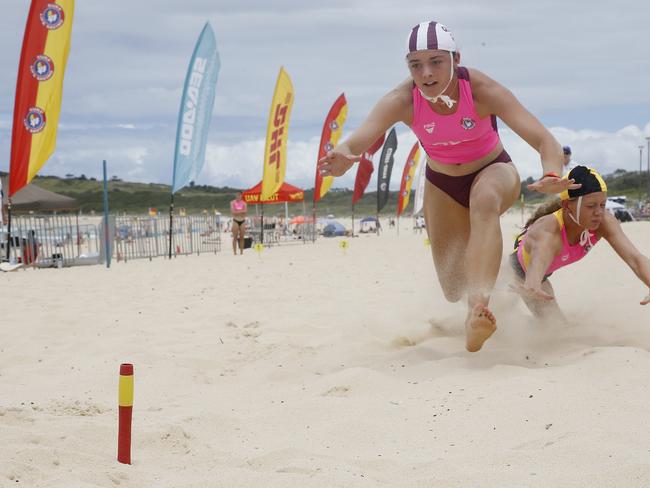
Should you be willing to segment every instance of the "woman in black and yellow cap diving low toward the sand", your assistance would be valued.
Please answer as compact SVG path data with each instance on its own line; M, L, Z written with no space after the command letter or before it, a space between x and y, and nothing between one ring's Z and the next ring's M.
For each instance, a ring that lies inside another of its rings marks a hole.
M585 257L601 238L650 289L650 260L634 247L616 217L605 210L605 181L586 166L576 166L567 177L582 186L562 192L558 200L540 207L515 239L510 255L516 276L511 288L536 317L564 318L548 278ZM650 292L641 300L641 305L648 303Z

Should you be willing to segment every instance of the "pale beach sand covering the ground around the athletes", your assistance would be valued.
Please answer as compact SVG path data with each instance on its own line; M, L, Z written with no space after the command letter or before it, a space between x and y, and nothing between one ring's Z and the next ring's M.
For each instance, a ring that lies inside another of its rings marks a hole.
M504 275L471 354L410 224L345 253L226 242L0 274L0 486L650 486L650 307L611 248L553 276L568 327L532 320ZM624 230L650 254L650 223Z

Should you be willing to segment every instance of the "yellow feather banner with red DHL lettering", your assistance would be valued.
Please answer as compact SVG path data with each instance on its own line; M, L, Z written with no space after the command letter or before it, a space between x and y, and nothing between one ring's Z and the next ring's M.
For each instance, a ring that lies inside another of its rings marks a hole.
M266 130L262 200L268 200L284 182L291 107L293 107L293 85L284 68L280 68Z

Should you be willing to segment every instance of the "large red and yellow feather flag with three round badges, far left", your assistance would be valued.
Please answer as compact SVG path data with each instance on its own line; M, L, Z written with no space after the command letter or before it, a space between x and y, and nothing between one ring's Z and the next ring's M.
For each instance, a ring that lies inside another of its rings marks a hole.
M9 196L27 185L56 147L74 0L32 0L18 66Z

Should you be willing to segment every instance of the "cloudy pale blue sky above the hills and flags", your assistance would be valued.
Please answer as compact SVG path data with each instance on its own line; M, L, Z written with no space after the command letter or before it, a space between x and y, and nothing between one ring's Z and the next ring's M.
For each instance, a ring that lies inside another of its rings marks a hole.
M30 2L0 16L0 170L8 171L18 59ZM295 101L286 181L314 185L320 133L340 93L345 138L377 100L407 78L405 38L437 20L454 33L461 64L508 87L574 159L603 173L648 165L650 3L643 0L80 0L65 75L57 149L41 174L171 184L176 123L194 44L206 21L221 58L203 171L197 184L248 188L262 177L264 141L281 66ZM436 5L439 4L439 5ZM415 136L396 126L391 187ZM503 123L522 178L538 154ZM334 187L352 187L354 171ZM373 181L371 181L372 188Z

